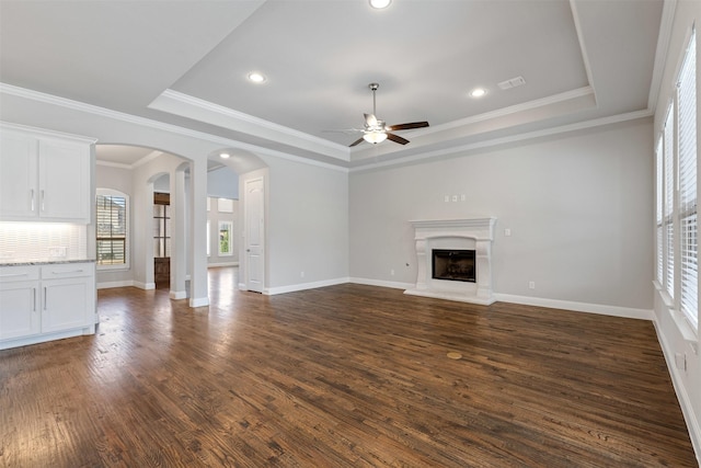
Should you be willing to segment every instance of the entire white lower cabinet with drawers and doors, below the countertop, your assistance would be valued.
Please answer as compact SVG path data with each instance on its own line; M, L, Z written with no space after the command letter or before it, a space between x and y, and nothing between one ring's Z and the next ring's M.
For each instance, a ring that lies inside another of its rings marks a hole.
M0 350L95 332L95 266L0 269Z

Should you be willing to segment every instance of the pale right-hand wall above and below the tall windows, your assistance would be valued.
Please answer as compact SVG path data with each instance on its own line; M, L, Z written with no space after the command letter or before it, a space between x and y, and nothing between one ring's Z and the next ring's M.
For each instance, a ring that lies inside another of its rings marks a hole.
M698 26L701 24L701 1L678 1L674 15L673 34L666 54L667 62L655 112L655 140L662 132L668 104L674 96L678 70L694 23L697 25L697 104L701 96L701 77L699 76L699 67L701 67L699 42L701 41L701 35L698 31ZM700 129L701 109L697 109L697 135L701 133L699 132ZM701 145L701 138L697 139L697 145ZM697 151L697 170L701 168L698 160L699 153L701 151ZM697 180L699 180L698 176ZM654 230L653 224L651 224L650 230ZM669 367L687 425L689 426L697 459L701 465L701 356L699 355L701 333L698 331L694 333L685 324L680 313L678 311L675 312L674 307L670 308L665 304L658 289L655 290L654 295L655 327L667 358L667 366ZM686 358L686 369L676 365L678 357Z

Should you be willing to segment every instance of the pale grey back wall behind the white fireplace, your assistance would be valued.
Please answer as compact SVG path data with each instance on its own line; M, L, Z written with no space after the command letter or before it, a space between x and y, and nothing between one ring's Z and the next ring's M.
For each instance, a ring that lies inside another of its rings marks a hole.
M440 162L354 172L350 276L413 284L409 220L495 216L497 298L650 317L651 133L650 119L643 119ZM531 281L536 289L529 289Z

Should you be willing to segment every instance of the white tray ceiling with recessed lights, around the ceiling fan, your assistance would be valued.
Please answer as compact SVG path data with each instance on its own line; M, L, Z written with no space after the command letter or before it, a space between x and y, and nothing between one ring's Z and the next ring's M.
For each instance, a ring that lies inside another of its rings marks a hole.
M651 115L663 5L0 0L0 82L354 167ZM249 82L252 70L267 81ZM526 84L497 87L515 77ZM401 132L406 146L353 149L359 134L327 132L363 127L374 81L379 118L430 127ZM487 94L470 98L474 87ZM99 159L133 165L150 152Z

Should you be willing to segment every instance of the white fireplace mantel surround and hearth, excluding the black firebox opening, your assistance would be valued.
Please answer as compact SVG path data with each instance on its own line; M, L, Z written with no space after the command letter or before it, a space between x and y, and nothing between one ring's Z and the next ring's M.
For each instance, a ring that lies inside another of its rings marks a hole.
M490 305L492 290L492 241L495 217L469 219L418 219L414 227L416 244L416 285L404 294ZM433 249L470 249L475 251L475 282L433 278Z

